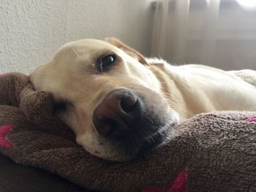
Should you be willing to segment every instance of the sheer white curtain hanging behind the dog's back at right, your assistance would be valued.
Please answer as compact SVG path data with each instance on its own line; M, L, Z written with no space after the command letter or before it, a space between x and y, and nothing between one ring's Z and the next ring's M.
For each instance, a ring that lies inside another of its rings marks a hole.
M256 0L155 2L151 56L173 64L256 69Z

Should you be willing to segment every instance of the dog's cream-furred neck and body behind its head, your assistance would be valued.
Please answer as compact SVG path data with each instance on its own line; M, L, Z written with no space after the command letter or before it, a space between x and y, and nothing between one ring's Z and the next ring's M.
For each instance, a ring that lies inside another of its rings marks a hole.
M217 110L256 110L253 70L226 72L197 64L172 66L157 59L148 59L148 63L152 63L151 70L162 89L173 97L170 106L178 112L180 120Z

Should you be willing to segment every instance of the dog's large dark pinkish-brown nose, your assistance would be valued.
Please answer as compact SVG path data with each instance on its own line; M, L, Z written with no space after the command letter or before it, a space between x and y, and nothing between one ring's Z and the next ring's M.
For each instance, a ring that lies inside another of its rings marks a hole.
M122 138L138 126L141 108L141 101L134 92L126 88L116 89L108 93L94 110L94 126L104 137Z

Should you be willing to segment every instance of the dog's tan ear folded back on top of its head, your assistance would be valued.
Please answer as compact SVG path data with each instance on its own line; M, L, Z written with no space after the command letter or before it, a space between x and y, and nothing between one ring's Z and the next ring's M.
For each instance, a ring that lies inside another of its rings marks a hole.
M125 45L120 40L113 37L106 37L105 41L123 50L125 53L127 53L127 55L130 55L132 58L137 59L141 64L149 65L146 61L146 58L142 54L140 54L137 50L132 49L128 45Z

